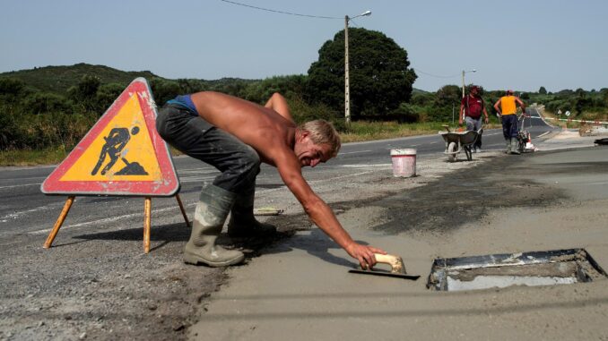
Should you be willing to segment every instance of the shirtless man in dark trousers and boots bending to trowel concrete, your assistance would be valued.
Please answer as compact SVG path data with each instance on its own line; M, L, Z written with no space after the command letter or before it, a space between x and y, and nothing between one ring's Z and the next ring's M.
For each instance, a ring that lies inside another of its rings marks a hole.
M253 216L261 162L278 169L283 183L312 222L359 260L362 269L376 264L374 253L387 253L355 243L332 209L312 191L301 167L314 167L334 158L340 149L340 137L323 120L296 126L280 94L275 93L264 107L212 91L178 96L161 108L156 128L175 148L221 171L201 191L184 250L185 262L224 267L244 260L242 252L215 245L230 211L230 236L274 233L274 226L261 224Z

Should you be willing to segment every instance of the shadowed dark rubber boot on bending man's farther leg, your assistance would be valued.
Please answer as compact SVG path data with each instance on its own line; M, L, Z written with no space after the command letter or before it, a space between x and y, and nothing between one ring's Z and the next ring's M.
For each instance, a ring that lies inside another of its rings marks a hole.
M261 237L276 233L276 227L260 223L253 214L255 187L239 194L230 212L228 235L235 238Z

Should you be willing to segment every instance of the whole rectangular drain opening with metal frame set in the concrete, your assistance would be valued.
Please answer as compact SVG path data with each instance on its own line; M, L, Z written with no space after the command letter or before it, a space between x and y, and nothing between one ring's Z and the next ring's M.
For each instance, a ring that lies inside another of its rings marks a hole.
M433 261L427 287L441 291L554 286L606 277L585 249L500 253Z

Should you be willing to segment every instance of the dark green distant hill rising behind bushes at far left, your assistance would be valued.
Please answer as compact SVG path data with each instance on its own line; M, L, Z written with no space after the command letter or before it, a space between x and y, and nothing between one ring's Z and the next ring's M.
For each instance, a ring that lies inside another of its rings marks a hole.
M45 66L30 70L0 73L0 77L16 78L27 85L45 92L65 93L78 84L83 75L89 74L100 78L102 84L119 83L125 86L137 77L161 78L149 71L125 72L104 65L74 64L70 66Z

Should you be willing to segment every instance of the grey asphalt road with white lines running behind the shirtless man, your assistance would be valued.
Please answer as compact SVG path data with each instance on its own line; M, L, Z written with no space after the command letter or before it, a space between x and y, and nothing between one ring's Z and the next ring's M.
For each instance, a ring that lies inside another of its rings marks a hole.
M531 132L533 140L552 130L545 124L534 108L527 113L524 127ZM487 150L504 148L499 129L483 133L483 147ZM328 176L352 175L361 167L383 166L390 163L389 151L395 148L417 150L418 158L440 157L445 149L444 141L437 135L415 136L393 140L348 143L343 145L337 158L325 165L303 170L308 181L325 179ZM181 183L180 196L192 214L197 193L204 183L213 181L218 172L198 160L188 157L174 158ZM7 234L45 234L55 223L65 204L66 196L48 196L40 192L40 184L55 166L4 167L0 169L0 236ZM282 181L272 166L262 166L257 177L257 192L282 187ZM178 214L176 201L172 198L152 200L152 225L156 217ZM133 224L143 215L143 199L123 197L76 197L61 232L74 227L94 227L104 224Z

